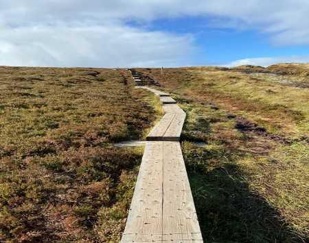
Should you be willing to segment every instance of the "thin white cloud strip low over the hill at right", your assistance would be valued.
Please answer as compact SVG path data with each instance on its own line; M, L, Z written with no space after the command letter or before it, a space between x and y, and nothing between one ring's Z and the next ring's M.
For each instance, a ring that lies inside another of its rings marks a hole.
M229 64L221 65L227 67L241 66L241 65L255 65L255 66L270 66L277 63L309 63L309 55L306 56L293 56L293 57L255 57L244 58L230 62Z

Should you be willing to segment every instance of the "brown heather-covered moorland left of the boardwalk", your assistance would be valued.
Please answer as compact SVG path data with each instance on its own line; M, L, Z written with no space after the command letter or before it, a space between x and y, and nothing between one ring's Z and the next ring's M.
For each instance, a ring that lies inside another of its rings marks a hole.
M0 67L0 242L118 242L152 127L126 71Z

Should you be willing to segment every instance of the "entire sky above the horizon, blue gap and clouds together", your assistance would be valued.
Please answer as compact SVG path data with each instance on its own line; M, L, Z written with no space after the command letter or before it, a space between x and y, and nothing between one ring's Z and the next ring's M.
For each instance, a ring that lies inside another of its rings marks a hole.
M0 2L0 65L309 62L308 0Z

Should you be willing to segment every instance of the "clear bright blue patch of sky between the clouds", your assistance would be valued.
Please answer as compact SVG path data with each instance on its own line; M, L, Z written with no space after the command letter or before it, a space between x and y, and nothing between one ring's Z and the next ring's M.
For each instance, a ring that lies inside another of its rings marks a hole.
M198 47L193 65L224 65L235 60L259 57L304 57L309 55L309 44L276 44L271 35L249 27L234 29L213 26L211 17L163 18L146 27L154 31L168 31L176 34L191 34ZM139 23L128 23L139 26ZM291 58L290 62L294 59ZM309 62L309 58L308 58Z

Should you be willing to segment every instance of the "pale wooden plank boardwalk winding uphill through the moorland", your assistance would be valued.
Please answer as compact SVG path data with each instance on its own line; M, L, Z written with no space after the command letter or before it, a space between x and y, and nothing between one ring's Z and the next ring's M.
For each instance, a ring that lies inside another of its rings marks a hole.
M178 142L185 112L174 103L163 103L163 110L165 115L147 137L121 242L203 242Z

